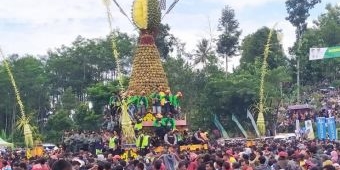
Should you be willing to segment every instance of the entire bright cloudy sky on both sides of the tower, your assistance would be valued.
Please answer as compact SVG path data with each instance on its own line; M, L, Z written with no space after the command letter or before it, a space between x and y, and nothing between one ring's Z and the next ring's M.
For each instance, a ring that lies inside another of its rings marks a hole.
M133 0L117 0L130 14ZM311 11L310 21L325 12L322 0ZM173 0L167 0L168 6ZM278 22L283 29L285 49L295 41L294 28L285 21L285 0L180 0L163 23L171 26L171 33L186 43L189 51L201 38L216 36L216 27L225 5L235 9L242 37L262 26L272 27ZM134 27L115 6L113 26L123 32L136 34ZM106 9L102 0L0 0L0 46L5 54L46 54L48 49L69 45L78 35L86 38L104 37L109 32ZM237 65L237 59L231 62Z

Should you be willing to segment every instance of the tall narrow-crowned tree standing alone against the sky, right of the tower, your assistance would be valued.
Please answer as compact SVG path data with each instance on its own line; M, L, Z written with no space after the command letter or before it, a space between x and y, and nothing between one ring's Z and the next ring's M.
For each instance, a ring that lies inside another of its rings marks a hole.
M237 54L241 35L239 22L235 19L235 11L229 6L222 10L218 30L221 34L218 36L217 52L225 58L226 72L228 72L228 58Z

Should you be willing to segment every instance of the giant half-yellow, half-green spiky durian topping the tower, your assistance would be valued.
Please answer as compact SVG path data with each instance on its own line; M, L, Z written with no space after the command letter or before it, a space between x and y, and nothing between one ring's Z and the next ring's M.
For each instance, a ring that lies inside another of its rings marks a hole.
M161 10L158 0L135 0L132 6L132 19L140 30L158 28L161 23Z

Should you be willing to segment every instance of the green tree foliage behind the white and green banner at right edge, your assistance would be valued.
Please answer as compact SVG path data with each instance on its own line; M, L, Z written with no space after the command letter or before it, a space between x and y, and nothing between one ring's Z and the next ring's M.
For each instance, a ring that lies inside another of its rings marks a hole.
M307 29L301 37L301 46L295 43L291 49L300 60L300 76L303 85L315 85L322 81L336 81L340 77L340 59L309 61L311 47L332 47L340 45L340 7L327 5L327 12L314 21L315 27ZM293 65L294 66L294 65ZM295 67L295 66L294 66Z

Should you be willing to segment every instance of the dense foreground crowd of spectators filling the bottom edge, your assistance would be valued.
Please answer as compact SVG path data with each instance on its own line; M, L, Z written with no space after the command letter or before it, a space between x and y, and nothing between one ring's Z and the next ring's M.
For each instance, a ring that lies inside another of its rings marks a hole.
M2 170L339 170L340 144L330 141L261 140L253 146L243 142L217 144L208 150L179 151L124 159L119 154L92 154L62 148L44 157L26 159L24 153L3 151Z

